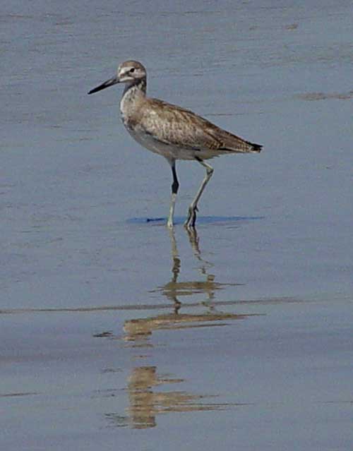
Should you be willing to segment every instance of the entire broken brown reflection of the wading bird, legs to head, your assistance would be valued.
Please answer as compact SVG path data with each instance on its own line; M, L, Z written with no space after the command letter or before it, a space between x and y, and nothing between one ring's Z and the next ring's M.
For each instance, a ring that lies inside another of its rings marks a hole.
M174 303L174 313L155 315L149 318L127 320L124 323L124 339L129 346L138 348L138 358L141 358L140 348L154 347L150 337L155 330L182 330L186 327L213 327L226 325L229 320L241 320L247 315L222 313L208 308L204 313L180 313L181 302L178 297L192 294L207 294L208 303L215 297L215 291L222 289L224 284L216 283L215 277L208 273L212 264L201 256L196 230L189 232L191 248L198 262L199 270L205 278L201 281L178 282L181 260L177 249L177 241L173 231L170 231L172 243L172 280L157 291ZM203 303L205 304L205 303ZM184 303L183 303L184 305ZM189 304L191 305L191 304ZM200 303L193 303L199 306ZM152 428L157 425L157 415L166 412L212 411L227 409L235 403L208 402L215 395L209 393L192 394L178 390L158 390L164 384L182 383L183 379L171 378L169 375L159 375L155 366L138 366L133 368L128 377L127 390L129 406L126 416L107 414L114 426L131 426L132 428ZM217 396L217 395L216 395Z

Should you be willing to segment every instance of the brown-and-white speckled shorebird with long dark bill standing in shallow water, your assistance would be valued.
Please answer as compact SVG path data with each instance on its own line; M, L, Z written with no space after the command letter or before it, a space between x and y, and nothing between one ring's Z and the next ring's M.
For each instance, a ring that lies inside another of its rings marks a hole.
M140 145L165 157L172 167L173 184L168 227L173 227L179 188L176 160L196 160L205 167L205 178L191 202L184 223L187 229L193 229L198 201L213 174L213 167L205 160L222 154L260 152L262 146L222 130L189 109L147 97L146 78L146 70L142 64L138 61L125 61L118 67L116 76L90 90L88 94L116 83L126 84L120 101L124 126Z

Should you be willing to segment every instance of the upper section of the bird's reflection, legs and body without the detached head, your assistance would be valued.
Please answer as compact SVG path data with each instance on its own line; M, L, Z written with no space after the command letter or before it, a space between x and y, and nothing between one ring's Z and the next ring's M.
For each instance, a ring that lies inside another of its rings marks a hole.
M201 256L199 240L196 230L189 231L189 240L193 253L201 263L199 271L205 277L205 280L191 280L186 282L178 282L181 268L181 260L177 249L177 241L174 231L169 230L172 243L172 280L164 284L152 292L162 293L169 301L173 302L174 313L156 315L150 318L139 318L127 320L124 323L124 339L128 342L135 342L136 346L148 346L146 339L152 335L154 330L160 329L181 329L183 327L203 327L205 325L221 325L225 320L239 320L245 318L246 315L237 315L234 313L222 313L215 311L213 300L215 299L215 291L223 289L226 286L237 286L239 284L223 284L215 282L215 276L209 274L208 270L212 267L212 263L204 260ZM181 303L179 298L183 296L193 296L195 294L206 294L205 301L195 303ZM180 313L181 306L208 306L205 313Z

